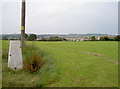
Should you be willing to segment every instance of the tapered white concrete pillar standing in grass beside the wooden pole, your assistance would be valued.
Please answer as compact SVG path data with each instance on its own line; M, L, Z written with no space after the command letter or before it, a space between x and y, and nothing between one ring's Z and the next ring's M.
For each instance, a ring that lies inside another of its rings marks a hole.
M14 70L23 68L20 41L10 41L8 54L8 68Z

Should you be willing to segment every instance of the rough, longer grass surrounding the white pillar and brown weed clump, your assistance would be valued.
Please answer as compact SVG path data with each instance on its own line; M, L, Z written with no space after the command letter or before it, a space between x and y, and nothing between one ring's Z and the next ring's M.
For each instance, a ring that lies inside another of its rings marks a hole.
M2 53L2 86L3 87L43 87L47 86L51 82L55 82L58 78L58 69L53 63L53 58L48 53L31 45L26 45L23 49L23 61L26 61L26 57L32 55L42 55L45 62L44 66L36 72L22 70L11 70L7 68L7 56L9 42L3 41L3 53ZM30 61L30 60L29 60Z

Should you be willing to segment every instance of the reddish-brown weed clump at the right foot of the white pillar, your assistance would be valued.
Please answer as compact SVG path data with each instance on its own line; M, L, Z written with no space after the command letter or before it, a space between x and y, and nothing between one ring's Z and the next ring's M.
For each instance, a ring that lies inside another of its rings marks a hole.
M31 55L25 57L24 69L30 72L36 72L44 64L43 57L39 55Z

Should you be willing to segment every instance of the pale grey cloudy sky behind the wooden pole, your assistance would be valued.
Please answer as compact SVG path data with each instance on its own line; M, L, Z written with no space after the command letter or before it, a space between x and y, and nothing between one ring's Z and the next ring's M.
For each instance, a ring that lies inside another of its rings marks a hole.
M26 33L118 34L118 0L26 1ZM0 19L3 34L20 33L21 0L2 1Z

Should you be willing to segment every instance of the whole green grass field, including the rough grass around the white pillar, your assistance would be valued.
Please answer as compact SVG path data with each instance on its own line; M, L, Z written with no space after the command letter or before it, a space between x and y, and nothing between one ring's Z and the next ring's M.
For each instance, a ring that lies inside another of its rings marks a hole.
M26 42L44 51L37 72L7 68L9 41L3 41L3 86L117 87L118 42ZM28 50L28 49L27 49ZM29 55L28 50L24 55ZM39 54L39 53L38 53Z

